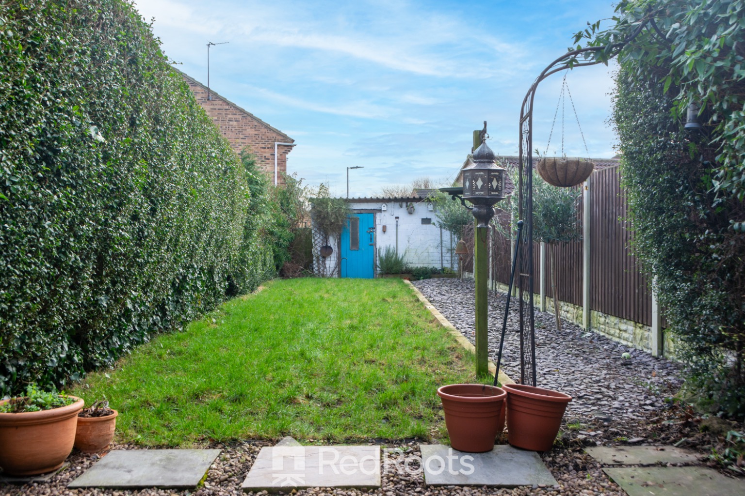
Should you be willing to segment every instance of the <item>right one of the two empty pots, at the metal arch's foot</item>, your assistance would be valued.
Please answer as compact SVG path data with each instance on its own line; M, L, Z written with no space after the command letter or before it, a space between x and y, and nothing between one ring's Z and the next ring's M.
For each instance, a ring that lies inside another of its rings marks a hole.
M571 396L525 384L502 387L507 391L507 441L530 451L550 450Z

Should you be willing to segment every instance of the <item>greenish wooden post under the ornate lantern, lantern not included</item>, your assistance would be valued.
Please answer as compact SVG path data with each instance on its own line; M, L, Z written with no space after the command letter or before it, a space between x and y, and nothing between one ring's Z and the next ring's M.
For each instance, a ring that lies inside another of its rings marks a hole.
M474 277L476 283L476 376L489 374L489 321L487 288L489 279L489 228L475 228Z

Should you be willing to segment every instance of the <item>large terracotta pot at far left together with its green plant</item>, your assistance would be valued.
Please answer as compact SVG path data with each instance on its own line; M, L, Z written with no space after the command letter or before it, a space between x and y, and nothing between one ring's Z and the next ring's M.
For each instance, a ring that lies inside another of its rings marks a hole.
M25 396L0 401L0 467L12 476L60 468L72 451L83 400L29 384Z

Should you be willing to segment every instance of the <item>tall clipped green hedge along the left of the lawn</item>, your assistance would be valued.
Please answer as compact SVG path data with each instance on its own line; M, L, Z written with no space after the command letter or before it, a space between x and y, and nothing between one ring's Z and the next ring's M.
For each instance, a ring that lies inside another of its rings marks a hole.
M241 161L124 0L0 0L0 396L273 274Z

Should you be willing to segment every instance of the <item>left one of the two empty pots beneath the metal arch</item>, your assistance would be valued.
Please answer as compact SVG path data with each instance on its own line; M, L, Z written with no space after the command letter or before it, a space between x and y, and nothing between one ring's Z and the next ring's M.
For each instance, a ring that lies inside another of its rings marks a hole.
M504 399L500 387L484 384L449 384L440 387L450 445L458 451L481 453L494 448L504 431Z

